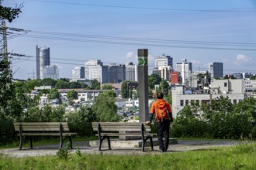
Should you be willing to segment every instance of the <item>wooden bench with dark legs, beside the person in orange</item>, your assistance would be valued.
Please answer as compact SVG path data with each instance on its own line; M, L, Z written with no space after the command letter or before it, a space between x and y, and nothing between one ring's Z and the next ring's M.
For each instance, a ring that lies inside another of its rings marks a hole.
M152 151L153 140L152 137L157 134L150 134L150 126L144 125L143 123L128 123L128 122L92 122L93 131L98 131L97 136L99 136L99 151L102 150L102 141L104 139L108 140L109 150L111 150L109 137L114 136L137 136L142 139L142 151L147 139L150 140L150 145Z

